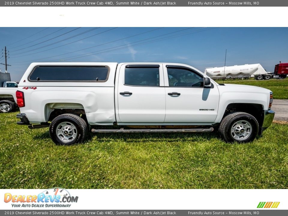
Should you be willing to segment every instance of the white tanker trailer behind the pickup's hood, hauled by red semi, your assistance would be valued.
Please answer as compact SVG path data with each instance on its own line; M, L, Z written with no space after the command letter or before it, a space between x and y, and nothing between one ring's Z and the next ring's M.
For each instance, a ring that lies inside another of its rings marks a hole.
M261 64L244 64L224 67L208 67L204 74L210 76L212 79L223 78L249 78L258 74L266 74L266 70Z

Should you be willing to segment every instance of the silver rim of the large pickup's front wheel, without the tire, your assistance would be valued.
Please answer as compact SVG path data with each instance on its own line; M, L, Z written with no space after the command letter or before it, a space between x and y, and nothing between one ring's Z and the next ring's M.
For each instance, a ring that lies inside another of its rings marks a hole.
M241 120L235 122L231 128L231 135L235 140L244 140L250 136L252 132L252 126L249 122Z

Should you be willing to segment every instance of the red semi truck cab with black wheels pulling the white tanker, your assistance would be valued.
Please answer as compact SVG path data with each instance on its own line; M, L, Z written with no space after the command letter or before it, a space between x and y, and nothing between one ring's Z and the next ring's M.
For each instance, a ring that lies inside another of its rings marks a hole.
M274 73L260 73L254 77L256 80L262 79L284 79L288 74L288 63L279 63L275 65Z

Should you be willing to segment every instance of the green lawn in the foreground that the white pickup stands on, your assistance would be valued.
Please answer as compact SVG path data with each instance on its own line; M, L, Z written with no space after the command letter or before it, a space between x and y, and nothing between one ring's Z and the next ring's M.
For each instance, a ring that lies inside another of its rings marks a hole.
M103 134L57 146L0 113L0 188L288 188L288 125L248 144L210 134Z

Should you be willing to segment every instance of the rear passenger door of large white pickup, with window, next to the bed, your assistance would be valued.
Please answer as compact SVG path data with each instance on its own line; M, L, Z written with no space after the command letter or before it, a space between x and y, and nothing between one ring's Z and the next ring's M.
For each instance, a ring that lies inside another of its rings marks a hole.
M120 68L118 80L118 116L121 123L141 125L164 122L165 88L162 64L156 68L153 65L127 67L124 64Z

